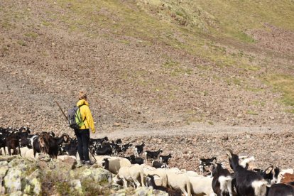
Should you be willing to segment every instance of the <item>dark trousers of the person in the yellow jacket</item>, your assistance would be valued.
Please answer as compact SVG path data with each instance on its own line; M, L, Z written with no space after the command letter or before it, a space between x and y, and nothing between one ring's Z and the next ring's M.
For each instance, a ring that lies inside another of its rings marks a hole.
M89 160L89 129L75 129L80 160Z

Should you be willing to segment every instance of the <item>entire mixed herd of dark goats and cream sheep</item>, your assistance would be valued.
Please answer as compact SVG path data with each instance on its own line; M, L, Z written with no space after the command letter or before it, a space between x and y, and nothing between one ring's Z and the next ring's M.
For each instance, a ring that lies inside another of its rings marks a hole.
M217 163L217 158L201 158L200 174L195 171L168 168L171 154L163 156L163 151L146 151L145 143L133 146L122 143L121 139L109 141L104 138L90 138L89 153L102 156L102 167L116 174L114 182L122 181L126 187L128 183L134 186L152 186L153 189L168 192L168 195L294 195L293 169L281 170L272 165L265 170L251 167L253 157L239 157L231 149L227 149L227 156L231 170ZM36 153L48 153L51 158L58 156L77 156L77 139L67 134L55 136L53 132L31 134L31 129L22 126L19 129L0 127L0 148L4 153L21 154L21 148L33 149ZM134 155L125 156L128 149ZM120 168L113 169L111 158L119 157ZM146 165L152 160L151 165ZM125 164L122 164L124 162ZM209 175L204 175L205 168ZM232 172L230 172L232 171Z

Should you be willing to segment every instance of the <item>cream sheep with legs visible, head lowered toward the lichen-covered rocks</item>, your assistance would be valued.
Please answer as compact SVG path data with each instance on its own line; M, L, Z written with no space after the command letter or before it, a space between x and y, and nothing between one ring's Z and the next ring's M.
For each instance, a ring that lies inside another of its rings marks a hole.
M138 178L141 178L141 185L138 182ZM145 187L144 185L144 175L143 175L143 168L141 165L135 164L130 165L129 167L121 167L119 168L119 173L116 175L116 180L123 180L124 181L124 187L128 187L128 181L133 181L136 184L136 187Z

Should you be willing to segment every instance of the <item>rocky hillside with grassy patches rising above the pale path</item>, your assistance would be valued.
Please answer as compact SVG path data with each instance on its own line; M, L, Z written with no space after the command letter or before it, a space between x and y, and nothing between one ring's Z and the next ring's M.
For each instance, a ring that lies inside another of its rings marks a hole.
M1 126L293 125L293 1L1 1Z

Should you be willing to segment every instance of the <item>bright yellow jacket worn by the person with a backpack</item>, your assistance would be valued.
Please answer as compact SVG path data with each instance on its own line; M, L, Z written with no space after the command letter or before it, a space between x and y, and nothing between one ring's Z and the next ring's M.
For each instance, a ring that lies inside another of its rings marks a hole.
M77 102L77 107L80 107L82 120L84 121L84 125L81 126L80 129L91 128L92 133L94 134L96 130L94 127L94 121L93 121L91 111L89 110L89 103L85 99L81 99L79 100L79 102Z

